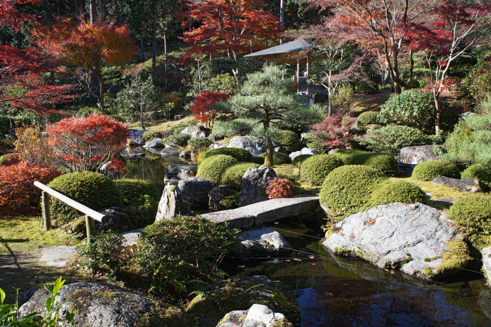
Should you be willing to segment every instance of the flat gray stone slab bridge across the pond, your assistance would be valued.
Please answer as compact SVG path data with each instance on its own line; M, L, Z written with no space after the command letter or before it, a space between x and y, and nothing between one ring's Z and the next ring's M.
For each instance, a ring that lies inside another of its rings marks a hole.
M244 207L222 210L201 215L215 223L228 222L230 228L247 228L265 222L275 221L319 210L319 197L302 194L295 197L277 198L249 204Z

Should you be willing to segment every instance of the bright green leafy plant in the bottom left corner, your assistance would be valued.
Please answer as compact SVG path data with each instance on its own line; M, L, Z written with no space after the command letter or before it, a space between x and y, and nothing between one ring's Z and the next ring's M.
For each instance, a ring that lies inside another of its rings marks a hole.
M4 327L38 327L47 326L55 327L58 323L65 323L68 326L74 326L75 312L67 310L65 305L74 304L73 302L59 303L56 300L56 294L59 292L65 280L61 279L61 276L56 279L53 288L45 286L44 288L50 292L51 296L46 300L46 312L41 314L39 312L32 312L27 316L21 317L19 314L19 304L4 304L5 292L0 288L0 326ZM63 310L65 313L60 316L60 312ZM63 319L64 318L64 319Z

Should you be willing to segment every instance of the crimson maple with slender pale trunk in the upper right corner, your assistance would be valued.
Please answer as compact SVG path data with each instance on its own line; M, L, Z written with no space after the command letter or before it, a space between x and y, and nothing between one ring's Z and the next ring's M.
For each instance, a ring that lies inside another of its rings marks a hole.
M436 118L435 131L440 131L440 94L458 79L449 79L449 69L456 58L491 41L490 0L440 0L438 5L418 20L408 23L410 49L423 51L430 69Z

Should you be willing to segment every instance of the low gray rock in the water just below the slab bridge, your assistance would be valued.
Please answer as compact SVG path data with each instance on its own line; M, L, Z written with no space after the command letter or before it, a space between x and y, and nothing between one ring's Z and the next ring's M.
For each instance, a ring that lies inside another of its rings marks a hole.
M277 231L263 227L250 229L237 234L240 243L235 249L236 254L279 254L291 252L290 244Z

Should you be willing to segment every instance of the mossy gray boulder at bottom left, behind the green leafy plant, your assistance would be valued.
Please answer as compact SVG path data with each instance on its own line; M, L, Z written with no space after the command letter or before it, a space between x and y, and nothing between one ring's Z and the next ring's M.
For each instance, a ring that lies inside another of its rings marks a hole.
M25 316L32 312L46 312L45 305L49 296L50 293L44 288L37 289L21 306L19 313ZM56 295L56 300L62 304L74 302L73 305L62 305L60 311L76 308L75 321L79 326L90 327L133 327L138 324L140 317L154 306L141 295L99 283L83 282L63 285ZM59 316L64 315L60 312ZM56 326L65 327L68 324L61 322Z

